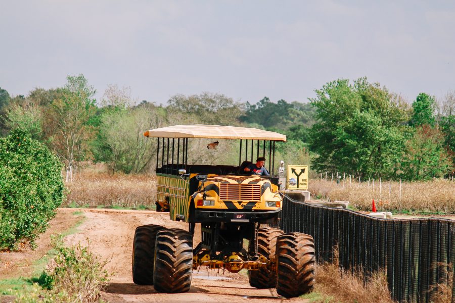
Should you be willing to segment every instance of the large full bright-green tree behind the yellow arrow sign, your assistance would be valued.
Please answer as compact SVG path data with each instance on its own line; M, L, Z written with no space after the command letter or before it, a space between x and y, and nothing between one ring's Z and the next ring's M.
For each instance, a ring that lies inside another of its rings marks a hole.
M310 131L316 171L390 176L403 150L407 110L385 87L360 78L317 89L317 122Z

